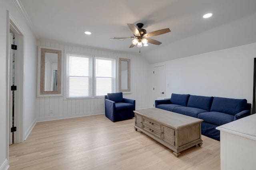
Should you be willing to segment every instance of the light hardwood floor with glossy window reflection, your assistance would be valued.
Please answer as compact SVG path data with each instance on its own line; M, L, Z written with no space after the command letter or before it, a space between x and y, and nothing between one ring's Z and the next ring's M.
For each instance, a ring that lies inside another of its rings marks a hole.
M176 158L134 130L134 119L113 123L94 115L36 123L28 139L10 145L10 170L220 170L220 142L202 136Z

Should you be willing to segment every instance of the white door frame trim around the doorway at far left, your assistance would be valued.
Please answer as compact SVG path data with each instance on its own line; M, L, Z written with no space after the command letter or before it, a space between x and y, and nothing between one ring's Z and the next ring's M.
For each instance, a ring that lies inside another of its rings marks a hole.
M22 29L18 26L18 23L14 20L14 18L11 16L9 11L7 12L7 18L8 18L8 24L7 24L7 36L9 37L10 29L15 33L17 39L15 41L17 48L17 55L18 58L15 61L15 85L17 86L16 92L16 104L14 105L16 107L14 112L14 126L17 127L17 131L14 133L14 143L20 143L24 141L24 130L23 130L23 122L24 122L24 33ZM10 134L10 79L12 80L12 75L10 75L10 62L12 62L12 57L10 57L9 54L9 44L10 39L7 39L7 94L8 94L8 140L9 140L9 134ZM8 141L9 143L9 141Z

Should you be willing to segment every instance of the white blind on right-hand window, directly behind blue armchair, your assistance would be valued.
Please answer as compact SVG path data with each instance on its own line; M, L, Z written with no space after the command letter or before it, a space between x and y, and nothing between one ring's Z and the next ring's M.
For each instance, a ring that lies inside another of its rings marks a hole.
M104 96L116 91L116 60L95 57L94 96Z

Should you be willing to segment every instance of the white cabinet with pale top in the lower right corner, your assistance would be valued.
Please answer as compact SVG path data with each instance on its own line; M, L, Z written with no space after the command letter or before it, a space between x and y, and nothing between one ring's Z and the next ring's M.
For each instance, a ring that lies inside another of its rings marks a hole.
M256 114L216 127L221 170L256 170Z

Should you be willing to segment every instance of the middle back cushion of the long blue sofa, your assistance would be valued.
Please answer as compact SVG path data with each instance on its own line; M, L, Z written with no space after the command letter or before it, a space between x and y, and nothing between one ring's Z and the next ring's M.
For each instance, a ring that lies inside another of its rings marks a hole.
M212 100L213 97L190 95L188 98L188 107L196 107L210 111Z

